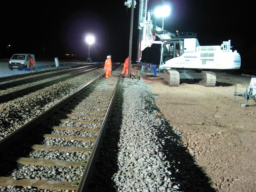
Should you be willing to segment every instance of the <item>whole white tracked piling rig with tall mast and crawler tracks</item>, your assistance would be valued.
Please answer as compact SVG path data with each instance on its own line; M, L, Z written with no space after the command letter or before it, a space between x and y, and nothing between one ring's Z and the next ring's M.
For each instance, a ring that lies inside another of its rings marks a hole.
M137 61L146 47L160 44L158 69L168 71L170 85L178 86L180 79L202 79L205 86L215 86L213 70L240 69L240 54L231 50L230 40L221 45L200 46L196 33L163 30L153 25L153 12L147 9L147 4L148 0L140 1ZM156 41L156 37L160 40Z

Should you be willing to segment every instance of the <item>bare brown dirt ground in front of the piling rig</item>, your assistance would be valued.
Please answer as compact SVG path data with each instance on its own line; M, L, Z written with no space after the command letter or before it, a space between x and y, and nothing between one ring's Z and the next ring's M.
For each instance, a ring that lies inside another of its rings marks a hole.
M219 192L256 191L256 102L241 96L251 77L216 72L215 87L200 82L164 83L163 73L141 77L157 95L160 114L182 133L196 163Z

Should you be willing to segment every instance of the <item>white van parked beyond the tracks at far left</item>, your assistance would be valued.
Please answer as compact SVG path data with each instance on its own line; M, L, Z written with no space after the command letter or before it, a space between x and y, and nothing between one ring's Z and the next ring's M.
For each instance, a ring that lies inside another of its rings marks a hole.
M33 67L36 66L35 55L33 54L14 54L9 61L9 68L12 69L24 69L29 67L29 59L33 60Z

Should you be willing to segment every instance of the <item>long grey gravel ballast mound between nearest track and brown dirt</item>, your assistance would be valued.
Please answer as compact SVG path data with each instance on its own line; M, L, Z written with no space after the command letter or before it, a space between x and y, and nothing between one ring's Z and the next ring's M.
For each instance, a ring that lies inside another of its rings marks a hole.
M154 101L144 81L123 79L92 191L214 191Z

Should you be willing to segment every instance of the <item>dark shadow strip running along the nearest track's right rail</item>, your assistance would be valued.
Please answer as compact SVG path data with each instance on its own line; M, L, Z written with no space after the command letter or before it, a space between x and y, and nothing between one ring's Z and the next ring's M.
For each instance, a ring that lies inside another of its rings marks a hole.
M99 161L95 165L95 172L88 186L88 191L115 192L113 175L119 170L117 165L118 142L122 123L123 88L118 90L118 98L113 104L115 110L110 114L111 125L107 127L100 150ZM117 109L117 110L116 110Z

